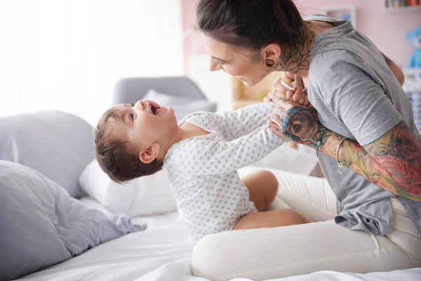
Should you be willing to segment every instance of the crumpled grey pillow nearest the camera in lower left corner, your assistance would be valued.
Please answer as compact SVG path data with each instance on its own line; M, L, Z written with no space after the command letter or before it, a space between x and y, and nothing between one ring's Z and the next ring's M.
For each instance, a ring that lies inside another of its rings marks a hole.
M11 280L145 230L127 216L89 209L57 183L0 160L0 280Z

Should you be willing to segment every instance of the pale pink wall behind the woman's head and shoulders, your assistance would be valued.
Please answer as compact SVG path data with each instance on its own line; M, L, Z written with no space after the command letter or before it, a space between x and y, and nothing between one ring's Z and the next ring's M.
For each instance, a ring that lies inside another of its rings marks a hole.
M182 0L183 30L187 30L195 22L196 1ZM321 13L324 6L353 4L356 7L358 30L370 38L380 51L395 63L406 65L412 47L406 41L405 34L413 27L421 27L421 10L387 12L383 3L384 0L295 0L303 16ZM191 39L191 37L184 39L185 58L192 53ZM199 53L206 53L202 44L199 44ZM187 67L187 63L185 65Z

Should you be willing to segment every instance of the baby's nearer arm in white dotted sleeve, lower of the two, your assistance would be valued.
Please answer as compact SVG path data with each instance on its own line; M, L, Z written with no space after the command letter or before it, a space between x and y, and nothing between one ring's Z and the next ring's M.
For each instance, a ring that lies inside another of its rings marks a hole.
M199 141L192 146L196 156L192 159L192 174L207 176L225 174L262 159L284 140L263 125L252 133L232 141Z

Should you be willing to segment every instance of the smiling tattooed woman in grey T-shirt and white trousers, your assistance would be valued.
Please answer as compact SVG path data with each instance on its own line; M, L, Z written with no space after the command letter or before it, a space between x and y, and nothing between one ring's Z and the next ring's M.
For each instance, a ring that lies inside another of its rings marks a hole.
M350 22L303 20L291 0L200 0L197 20L210 70L246 86L275 70L304 79L313 108L296 106L278 84L269 127L314 148L327 182L309 188L302 176L279 177L282 200L314 223L204 237L194 275L420 267L421 145L398 67Z

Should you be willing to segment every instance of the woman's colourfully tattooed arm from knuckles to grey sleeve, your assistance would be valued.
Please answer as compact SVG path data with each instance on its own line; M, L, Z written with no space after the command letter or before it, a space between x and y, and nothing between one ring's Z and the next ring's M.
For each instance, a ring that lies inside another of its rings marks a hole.
M336 159L342 136L326 129L314 108L305 108L282 100L275 108L269 129ZM316 145L317 142L320 145ZM345 140L338 159L371 183L411 200L421 201L421 145L405 122L383 136L361 146Z

